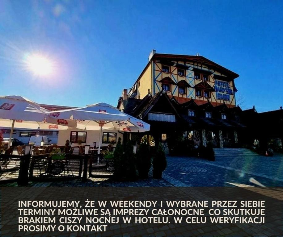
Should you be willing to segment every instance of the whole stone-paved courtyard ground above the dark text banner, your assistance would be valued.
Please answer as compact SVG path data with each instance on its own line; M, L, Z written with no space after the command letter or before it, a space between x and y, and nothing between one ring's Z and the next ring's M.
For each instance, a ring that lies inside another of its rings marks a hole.
M260 156L247 149L215 149L215 161L194 157L167 157L163 179L112 181L109 176L80 180L31 182L31 186L280 186L283 187L283 155ZM16 186L8 183L4 186Z

